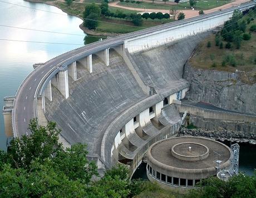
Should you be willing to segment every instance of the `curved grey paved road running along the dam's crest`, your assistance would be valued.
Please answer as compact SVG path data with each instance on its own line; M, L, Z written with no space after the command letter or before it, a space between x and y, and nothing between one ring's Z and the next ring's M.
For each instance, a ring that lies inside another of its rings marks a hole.
M252 4L252 3L250 3ZM255 4L255 3L254 3ZM242 6L240 6L242 7ZM229 8L233 9L233 8ZM229 10L227 9L227 10ZM225 11L219 11L217 13L211 13L210 15L219 14ZM82 55L90 54L99 52L101 50L106 49L107 47L111 47L124 43L125 39L129 39L135 36L144 35L146 33L154 32L160 29L165 29L167 27L176 26L177 24L187 23L189 21L194 21L195 19L201 19L204 17L208 17L207 15L204 16L197 16L193 19L186 19L181 21L176 21L173 23L166 23L161 26L151 27L144 29L142 31L133 32L124 34L121 36L108 38L100 42L95 42L88 44L84 47L78 48L77 50L73 50L63 55L60 55L53 60L48 61L45 65L36 68L31 74L23 81L22 85L19 87L16 93L16 99L14 101L13 106L13 131L14 137L21 137L21 135L29 135L29 131L27 130L29 120L31 118L36 117L36 100L35 100L35 93L39 92L40 90L37 87L41 86L41 81L45 80L48 75L48 72L54 70L55 68L61 67L61 65L65 62L68 62L73 59L73 61L78 60L78 57L82 57Z

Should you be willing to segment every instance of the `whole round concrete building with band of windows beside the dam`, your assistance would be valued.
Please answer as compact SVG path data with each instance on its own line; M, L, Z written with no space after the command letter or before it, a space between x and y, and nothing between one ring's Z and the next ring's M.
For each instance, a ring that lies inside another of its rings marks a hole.
M174 137L154 143L147 151L147 177L162 187L192 188L201 179L230 166L232 151L203 137Z

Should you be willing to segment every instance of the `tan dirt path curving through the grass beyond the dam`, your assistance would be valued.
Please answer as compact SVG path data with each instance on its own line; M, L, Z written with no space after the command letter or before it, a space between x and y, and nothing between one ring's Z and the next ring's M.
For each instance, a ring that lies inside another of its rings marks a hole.
M144 0L144 2L152 2L152 1ZM249 2L249 0L236 0L236 1L232 2L232 3L227 3L227 4L223 5L223 6L216 7L216 8L213 8L213 9L208 9L208 10L206 10L204 12L205 13L211 13L211 12L218 11L219 9L230 8L230 7L233 7L233 6L237 6L237 5L241 4L241 3L245 3L245 2ZM129 9L131 11L138 11L138 12L163 12L163 13L169 13L169 9L145 9L145 11L144 11L144 9L142 9L142 8L124 7L124 6L117 5L117 3L119 3L119 1L118 2L109 3L109 6L116 7L116 8L122 8L122 9ZM157 2L157 3L160 3L160 2ZM191 17L198 16L198 12L199 12L199 11L193 11L192 9L181 9L179 11L183 12L185 14L186 18L191 18Z

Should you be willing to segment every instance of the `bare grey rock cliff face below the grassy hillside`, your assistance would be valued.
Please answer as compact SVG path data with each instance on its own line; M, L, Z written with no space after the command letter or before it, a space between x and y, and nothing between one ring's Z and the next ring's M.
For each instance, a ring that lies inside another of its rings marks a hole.
M247 73L201 70L186 64L183 77L190 82L188 99L256 115L256 83Z

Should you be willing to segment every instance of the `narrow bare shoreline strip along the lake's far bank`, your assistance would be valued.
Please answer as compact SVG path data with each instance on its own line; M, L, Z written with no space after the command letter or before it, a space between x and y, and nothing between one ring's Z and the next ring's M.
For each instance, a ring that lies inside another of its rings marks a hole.
M87 34L88 36L103 36L103 37L114 37L114 36L119 36L121 34L117 34L117 33L108 33L108 32L95 32L95 31L92 31L91 29L88 29L86 28L85 26L83 26L83 19L81 17L78 17L76 16L75 14L72 14L72 13L69 13L67 11L65 11L64 9L60 8L59 6L57 6L56 4L54 4L54 2L56 1L42 1L42 0L24 0L26 2L31 2L31 3L44 3L44 4L47 4L49 6L54 6L58 9L61 9L62 12L65 12L66 14L69 14L73 17L77 17L77 18L80 18L82 20L82 23L79 25L79 28L82 29L82 31Z

